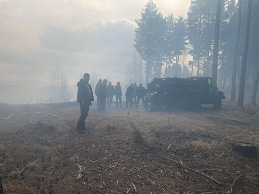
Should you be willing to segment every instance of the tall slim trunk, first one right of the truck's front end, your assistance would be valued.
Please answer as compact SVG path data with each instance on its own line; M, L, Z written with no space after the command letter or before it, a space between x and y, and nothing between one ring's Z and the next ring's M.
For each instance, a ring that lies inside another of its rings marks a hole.
M238 27L237 27L237 40L234 51L234 60L232 67L232 81L231 81L231 97L230 101L236 101L236 81L237 81L237 63L238 63L238 48L239 48L239 40L240 40L240 26L241 26L241 11L242 11L242 0L238 1Z

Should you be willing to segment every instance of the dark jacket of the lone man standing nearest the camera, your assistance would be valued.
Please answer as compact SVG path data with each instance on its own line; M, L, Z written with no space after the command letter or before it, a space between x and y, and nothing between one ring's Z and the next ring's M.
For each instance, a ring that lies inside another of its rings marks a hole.
M77 102L91 102L94 101L92 87L81 78L77 83Z

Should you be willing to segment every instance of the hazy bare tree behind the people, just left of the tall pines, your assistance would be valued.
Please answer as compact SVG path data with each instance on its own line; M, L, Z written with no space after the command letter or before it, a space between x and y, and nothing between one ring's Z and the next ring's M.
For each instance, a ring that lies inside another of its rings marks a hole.
M126 81L129 83L138 83L140 78L139 69L140 69L140 61L139 61L138 54L135 53L132 56L132 60L126 69Z

